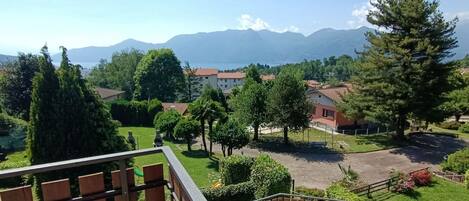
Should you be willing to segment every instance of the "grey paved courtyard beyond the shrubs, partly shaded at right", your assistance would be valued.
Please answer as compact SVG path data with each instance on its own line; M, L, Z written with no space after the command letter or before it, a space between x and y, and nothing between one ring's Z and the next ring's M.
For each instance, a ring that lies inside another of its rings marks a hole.
M409 172L431 167L436 168L446 154L452 153L469 142L456 138L436 135L414 135L414 145L369 153L338 154L313 152L273 152L243 148L235 154L256 156L266 153L288 167L295 186L324 189L341 178L338 164L351 165L360 179L372 183L386 179L392 169ZM218 146L214 151L219 151Z

